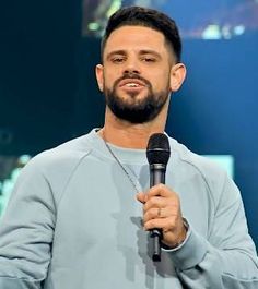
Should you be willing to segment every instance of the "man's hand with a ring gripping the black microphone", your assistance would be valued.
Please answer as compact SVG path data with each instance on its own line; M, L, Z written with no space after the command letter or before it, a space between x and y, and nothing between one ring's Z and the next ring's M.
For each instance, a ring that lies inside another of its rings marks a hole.
M138 193L137 200L143 204L145 230L161 229L162 242L176 248L186 239L178 195L164 184L152 186L146 193Z

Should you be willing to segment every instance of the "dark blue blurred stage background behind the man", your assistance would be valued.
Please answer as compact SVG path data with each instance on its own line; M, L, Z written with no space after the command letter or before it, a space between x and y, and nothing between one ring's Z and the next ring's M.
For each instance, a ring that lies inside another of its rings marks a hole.
M258 1L1 1L0 214L31 156L101 127L99 36L121 5L168 13L188 76L167 132L201 155L234 160L234 180L258 245Z

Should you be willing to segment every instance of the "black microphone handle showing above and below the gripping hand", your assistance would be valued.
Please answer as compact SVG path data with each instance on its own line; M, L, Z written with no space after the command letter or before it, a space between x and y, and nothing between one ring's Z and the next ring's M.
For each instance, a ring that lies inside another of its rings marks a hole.
M166 167L163 164L150 165L150 186L159 183L165 183ZM160 229L152 229L150 231L152 240L152 260L154 262L161 261L161 240L162 231Z

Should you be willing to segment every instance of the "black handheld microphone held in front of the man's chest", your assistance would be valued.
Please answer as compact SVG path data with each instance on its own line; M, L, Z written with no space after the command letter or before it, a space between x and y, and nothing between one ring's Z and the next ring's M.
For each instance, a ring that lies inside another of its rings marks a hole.
M150 167L150 188L165 183L166 165L171 156L168 137L163 133L154 133L150 136L146 146L146 158ZM150 232L152 239L152 260L161 261L161 239L162 231L152 229Z

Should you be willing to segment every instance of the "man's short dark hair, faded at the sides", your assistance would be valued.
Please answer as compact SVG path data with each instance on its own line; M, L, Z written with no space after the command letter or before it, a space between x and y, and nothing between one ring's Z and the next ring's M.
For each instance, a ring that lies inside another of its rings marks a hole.
M106 41L110 34L115 29L126 25L144 26L161 32L174 52L176 62L180 61L181 40L175 21L160 11L142 7L121 8L109 17L102 39L102 59Z

